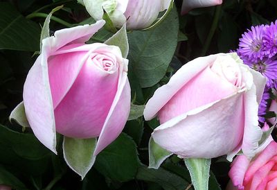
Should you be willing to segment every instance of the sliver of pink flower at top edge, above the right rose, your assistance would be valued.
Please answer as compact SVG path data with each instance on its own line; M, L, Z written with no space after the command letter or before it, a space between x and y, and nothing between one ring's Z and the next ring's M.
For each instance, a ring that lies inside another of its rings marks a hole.
M217 6L222 4L222 0L183 0L181 15L185 15L193 8Z

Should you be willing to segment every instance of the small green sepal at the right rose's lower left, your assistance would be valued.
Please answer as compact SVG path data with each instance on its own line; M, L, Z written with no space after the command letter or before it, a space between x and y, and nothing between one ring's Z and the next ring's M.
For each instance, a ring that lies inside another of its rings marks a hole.
M161 163L163 163L166 158L172 155L172 153L170 153L168 150L161 148L159 144L155 143L152 137L150 137L148 147L150 169L159 169Z

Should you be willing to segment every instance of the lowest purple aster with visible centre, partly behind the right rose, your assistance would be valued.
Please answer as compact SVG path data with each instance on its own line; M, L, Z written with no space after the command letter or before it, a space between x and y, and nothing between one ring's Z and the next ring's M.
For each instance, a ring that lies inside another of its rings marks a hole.
M277 60L274 58L264 58L257 62L243 59L244 64L249 65L252 69L260 72L267 78L267 87L274 87L274 80L277 79Z

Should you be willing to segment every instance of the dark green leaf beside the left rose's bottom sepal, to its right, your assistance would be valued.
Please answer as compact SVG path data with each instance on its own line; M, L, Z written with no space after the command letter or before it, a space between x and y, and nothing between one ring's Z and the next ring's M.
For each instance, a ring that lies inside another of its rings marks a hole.
M121 133L119 137L97 156L94 167L111 180L120 182L134 179L139 167L139 157L134 141Z

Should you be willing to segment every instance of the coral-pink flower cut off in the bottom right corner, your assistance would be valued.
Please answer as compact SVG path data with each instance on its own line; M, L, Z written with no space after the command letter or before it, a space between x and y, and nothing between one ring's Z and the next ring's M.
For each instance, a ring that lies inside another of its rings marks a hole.
M229 171L233 184L229 183L227 189L277 189L277 143L269 137L265 145L252 160L244 155L234 159Z

